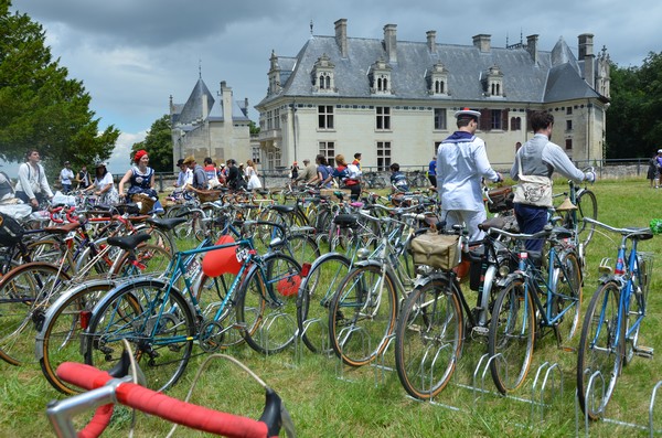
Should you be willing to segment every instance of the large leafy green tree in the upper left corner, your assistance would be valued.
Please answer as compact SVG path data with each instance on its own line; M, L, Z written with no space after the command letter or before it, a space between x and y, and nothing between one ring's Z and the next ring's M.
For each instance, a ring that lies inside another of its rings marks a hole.
M65 157L74 168L107 160L119 131L99 132L83 82L52 60L42 25L10 7L0 0L0 158L21 162L35 148L50 175Z

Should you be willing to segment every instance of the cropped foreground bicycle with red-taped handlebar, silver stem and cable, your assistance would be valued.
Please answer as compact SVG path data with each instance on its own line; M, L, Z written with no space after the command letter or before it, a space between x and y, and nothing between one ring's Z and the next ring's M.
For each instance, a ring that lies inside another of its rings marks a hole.
M127 357L128 354L122 354L119 366L108 373L74 362L58 366L57 373L63 381L86 391L63 400L49 403L46 416L58 438L102 435L110 424L117 403L177 425L225 437L277 437L281 428L288 437L295 436L289 413L280 396L256 376L266 394L265 408L259 420L179 400L134 383L140 372L135 370L132 374L129 373L132 364ZM243 366L238 362L237 364ZM97 408L94 417L81 432L76 432L74 416L93 408Z

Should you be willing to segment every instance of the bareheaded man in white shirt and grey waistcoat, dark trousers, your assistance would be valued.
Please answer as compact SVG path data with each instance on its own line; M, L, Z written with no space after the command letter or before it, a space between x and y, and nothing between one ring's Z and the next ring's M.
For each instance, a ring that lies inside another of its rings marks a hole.
M575 182L594 182L596 174L594 172L583 172L573 164L565 151L552 141L552 130L554 128L554 116L547 111L533 111L528 117L534 136L526 141L515 154L515 162L511 168L511 177L519 181L522 175L537 175L552 178L555 171L574 180ZM542 231L547 224L547 209L552 206L552 199L548 205L533 205L519 201L514 203L515 218L521 233L534 234ZM525 246L527 250L541 250L544 239L527 239Z

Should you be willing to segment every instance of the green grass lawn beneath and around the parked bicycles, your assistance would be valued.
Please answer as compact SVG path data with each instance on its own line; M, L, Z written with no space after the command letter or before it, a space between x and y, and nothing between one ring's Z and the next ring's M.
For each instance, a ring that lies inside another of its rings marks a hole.
M563 181L556 184L558 190L563 190ZM598 199L598 218L605 223L613 226L648 226L651 218L662 217L662 190L649 189L645 180L599 181L592 190ZM597 287L599 261L604 257L615 256L618 242L618 236L597 234L587 248L584 308ZM640 250L654 253L659 257L662 236L642 242ZM662 260L656 259L655 263ZM656 348L656 355L652 360L636 357L623 368L607 407L607 417L620 423L594 423L590 425L590 436L648 436L647 430L622 423L648 425L651 392L655 383L662 380L661 289L662 270L655 267L649 295L649 314L642 325L640 343ZM580 328L575 335L575 343L578 343L579 331ZM576 353L558 350L552 338L546 336L536 343L532 371L516 398L496 395L489 371L484 380L482 371L474 374L479 359L487 352L487 344L467 342L451 384L434 404L406 397L394 371L377 367L343 368L338 360L313 355L305 348L300 356L291 349L264 357L245 345L229 350L227 354L243 361L281 395L299 437L574 436L577 415L574 396ZM206 357L194 357L182 381L169 394L184 398L195 372ZM394 365L392 350L387 351L384 362L387 367ZM551 373L554 384L547 384L548 389L555 391L534 393L532 386L536 371L545 362L556 363L560 370ZM45 382L41 371L36 366L13 367L0 363L0 436L53 436L44 408L49 400L60 395ZM485 393L468 388L474 375L477 386L484 388ZM528 403L532 396L537 400L544 399L545 408ZM192 402L257 417L264 404L264 393L243 371L227 361L215 360L197 383ZM655 428L660 431L662 399L658 399L654 410ZM130 414L119 410L105 436L128 436L130 423ZM170 426L158 418L138 414L135 436L162 437L168 434ZM585 435L581 417L578 427L579 435ZM179 429L174 436L201 435Z

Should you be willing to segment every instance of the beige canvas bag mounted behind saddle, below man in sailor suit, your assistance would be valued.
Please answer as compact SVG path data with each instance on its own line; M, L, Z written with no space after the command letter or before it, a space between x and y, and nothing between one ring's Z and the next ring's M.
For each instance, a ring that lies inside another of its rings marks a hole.
M410 252L414 264L449 270L460 263L460 236L427 232L414 237Z

